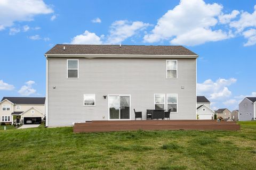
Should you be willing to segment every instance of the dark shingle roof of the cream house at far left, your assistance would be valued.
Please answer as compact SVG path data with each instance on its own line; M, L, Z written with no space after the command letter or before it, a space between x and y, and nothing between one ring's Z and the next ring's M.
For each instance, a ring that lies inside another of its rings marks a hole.
M9 100L14 104L30 104L30 105L44 105L45 97L3 97L3 100Z

